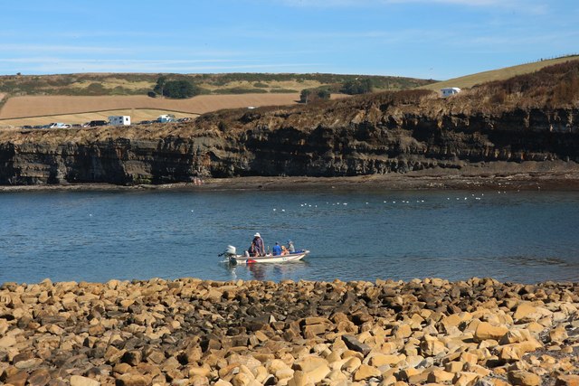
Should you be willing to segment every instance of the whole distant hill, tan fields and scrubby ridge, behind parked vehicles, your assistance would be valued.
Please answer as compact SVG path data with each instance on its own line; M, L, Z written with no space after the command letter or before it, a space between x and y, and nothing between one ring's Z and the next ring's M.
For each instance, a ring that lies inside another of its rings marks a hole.
M149 98L158 97L152 91L159 77L179 82L185 80L195 87L197 96L189 99ZM297 103L299 93L304 89L325 89L334 94L332 98L339 98L339 93L345 89L346 93L394 91L413 89L432 81L323 73L5 75L0 76L0 127L36 125L54 119L79 123L78 119L102 119L112 111L127 108L133 111L131 115L135 114L135 109L145 112L152 108L194 117L219 108ZM357 83L371 87L349 92ZM212 103L205 106L207 100ZM155 119L157 116L146 118Z

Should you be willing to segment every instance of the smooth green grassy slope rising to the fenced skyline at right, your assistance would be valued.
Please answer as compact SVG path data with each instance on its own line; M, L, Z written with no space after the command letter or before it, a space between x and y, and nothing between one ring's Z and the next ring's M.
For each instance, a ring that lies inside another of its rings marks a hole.
M535 61L518 66L506 67L504 69L484 71L476 74L466 75L460 78L444 80L419 87L420 89L439 90L446 87L459 87L460 89L471 88L475 85L495 80L508 80L517 75L524 75L531 72L539 71L545 67L552 66L565 61L579 61L579 55L565 56L562 58L550 59L546 61Z

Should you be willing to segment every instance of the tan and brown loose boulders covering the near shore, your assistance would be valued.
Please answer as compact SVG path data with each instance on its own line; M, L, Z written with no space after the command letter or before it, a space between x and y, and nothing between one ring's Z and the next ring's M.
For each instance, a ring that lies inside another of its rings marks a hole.
M4 283L0 384L577 385L579 284Z

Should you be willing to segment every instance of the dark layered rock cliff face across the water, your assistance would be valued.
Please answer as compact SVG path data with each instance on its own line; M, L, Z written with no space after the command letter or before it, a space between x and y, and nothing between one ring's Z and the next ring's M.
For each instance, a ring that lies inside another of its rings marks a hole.
M154 129L133 129L128 136L110 128L76 137L70 131L16 133L0 138L0 184L165 184L195 176L346 176L493 161L579 162L578 108L488 113L454 103L365 97L231 110L165 129L162 136Z

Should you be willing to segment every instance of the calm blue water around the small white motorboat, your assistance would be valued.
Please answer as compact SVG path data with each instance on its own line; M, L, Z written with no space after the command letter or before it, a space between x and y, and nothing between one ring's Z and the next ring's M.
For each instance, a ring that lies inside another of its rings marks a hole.
M228 244L306 260L229 267ZM579 195L560 192L0 193L0 283L184 278L579 280Z

